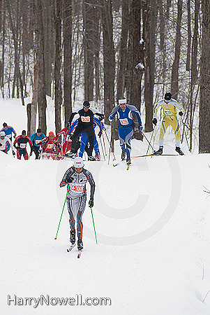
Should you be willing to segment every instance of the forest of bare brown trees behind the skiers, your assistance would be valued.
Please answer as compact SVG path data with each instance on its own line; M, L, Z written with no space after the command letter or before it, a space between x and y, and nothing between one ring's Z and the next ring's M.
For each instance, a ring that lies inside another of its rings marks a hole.
M29 135L37 115L46 132L47 96L56 132L84 100L109 124L121 97L151 132L154 104L172 92L189 151L210 153L208 0L0 0L0 34L1 97L27 105ZM137 128L134 137L142 139Z

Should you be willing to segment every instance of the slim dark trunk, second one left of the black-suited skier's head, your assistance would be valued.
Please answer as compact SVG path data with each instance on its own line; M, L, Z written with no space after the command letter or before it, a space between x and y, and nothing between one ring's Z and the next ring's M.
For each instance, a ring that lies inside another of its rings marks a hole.
M55 61L54 61L54 105L55 105L55 130L58 133L61 130L61 0L57 0L56 6L56 40L55 40Z

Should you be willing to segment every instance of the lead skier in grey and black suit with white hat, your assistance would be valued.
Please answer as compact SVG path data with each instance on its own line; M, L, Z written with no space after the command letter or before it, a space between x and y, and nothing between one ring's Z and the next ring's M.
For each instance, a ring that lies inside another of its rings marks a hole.
M82 215L87 201L87 189L86 183L89 181L91 186L89 207L93 207L93 196L95 192L95 182L93 180L92 174L84 169L84 162L82 158L77 157L74 160L74 164L70 169L66 171L63 179L60 183L60 187L66 186L70 183L70 189L68 190L68 195L66 198L69 223L70 223L70 242L75 244L76 233L75 233L75 223L77 224L77 248L82 250Z

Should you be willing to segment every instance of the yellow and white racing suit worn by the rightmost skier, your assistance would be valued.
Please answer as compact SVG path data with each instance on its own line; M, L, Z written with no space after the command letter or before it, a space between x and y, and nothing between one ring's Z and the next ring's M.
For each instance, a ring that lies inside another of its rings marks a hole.
M176 99L170 99L168 104L165 103L165 99L161 99L153 109L153 118L156 118L156 113L159 107L163 109L163 120L160 128L159 146L163 146L163 137L169 125L172 126L176 137L176 146L180 144L179 123L177 119L177 109L184 111L183 107L176 101Z

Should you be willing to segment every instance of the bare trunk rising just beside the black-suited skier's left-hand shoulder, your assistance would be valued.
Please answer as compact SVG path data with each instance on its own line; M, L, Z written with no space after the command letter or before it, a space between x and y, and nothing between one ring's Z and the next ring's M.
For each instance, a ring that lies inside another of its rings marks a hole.
M63 57L63 97L67 126L72 113L72 0L64 0Z

